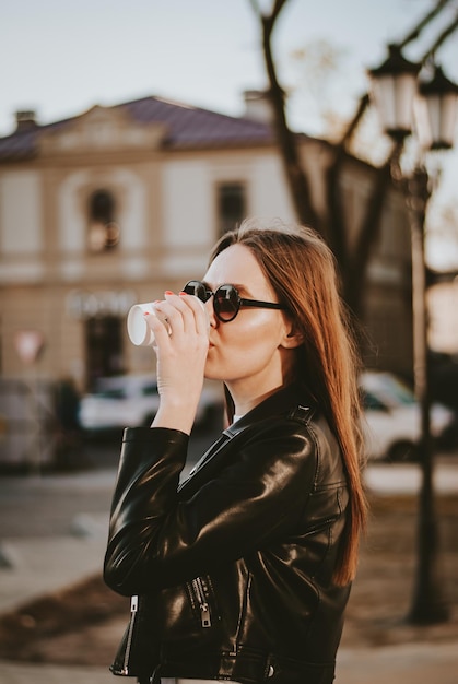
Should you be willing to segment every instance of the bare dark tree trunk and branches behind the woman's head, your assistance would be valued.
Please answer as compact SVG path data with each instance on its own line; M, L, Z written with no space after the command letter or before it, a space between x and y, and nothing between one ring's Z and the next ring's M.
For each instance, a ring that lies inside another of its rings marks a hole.
M363 306L364 280L371 249L376 241L381 223L381 210L388 189L391 187L390 167L394 158L399 158L402 143L394 143L386 162L374 173L374 185L364 211L364 217L356 239L349 245L349 229L345 223L341 184L342 170L351 155L353 135L360 126L369 104L368 94L364 94L353 118L349 121L341 139L333 145L332 161L326 175L328 214L316 211L310 192L310 184L302 166L297 145L297 135L290 129L285 115L285 93L279 83L275 60L272 54L272 34L281 11L287 0L273 0L270 12L261 10L258 0L249 0L260 22L262 49L269 80L268 96L273 110L273 126L291 197L300 222L314 226L328 241L338 260L343 283L343 294L350 308L361 316ZM437 16L450 0L438 0L433 9L421 19L414 28L398 45L404 47L419 37L420 33ZM428 54L434 52L441 43L457 27L450 24ZM424 56L423 59L426 59Z

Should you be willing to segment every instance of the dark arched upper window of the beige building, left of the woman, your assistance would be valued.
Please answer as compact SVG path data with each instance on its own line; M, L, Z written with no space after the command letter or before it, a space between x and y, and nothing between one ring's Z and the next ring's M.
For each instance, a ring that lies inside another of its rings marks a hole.
M119 243L115 198L108 190L96 190L89 201L87 247L90 251L107 251Z

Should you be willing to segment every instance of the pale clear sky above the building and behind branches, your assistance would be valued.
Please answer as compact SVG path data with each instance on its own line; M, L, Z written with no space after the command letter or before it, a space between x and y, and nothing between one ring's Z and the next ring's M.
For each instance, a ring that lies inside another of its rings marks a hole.
M322 126L301 91L294 50L332 44L339 68L327 96L340 117L351 117L368 87L366 69L379 66L387 44L403 38L435 1L289 0L273 47L282 83L296 89L292 127L319 134ZM457 0L450 4L457 12ZM0 135L14 130L16 110L34 109L48 123L148 95L239 116L243 92L267 84L250 0L0 0ZM406 57L419 59L446 19ZM437 58L458 83L458 31ZM439 166L435 199L450 203L458 150L442 155Z

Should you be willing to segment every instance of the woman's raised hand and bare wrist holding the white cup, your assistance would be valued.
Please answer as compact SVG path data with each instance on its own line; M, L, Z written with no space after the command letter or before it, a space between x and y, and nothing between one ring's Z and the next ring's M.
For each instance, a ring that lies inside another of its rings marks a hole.
M171 427L190 434L202 391L209 351L209 318L204 305L195 296L165 293L146 316L155 335L160 409L153 427Z

